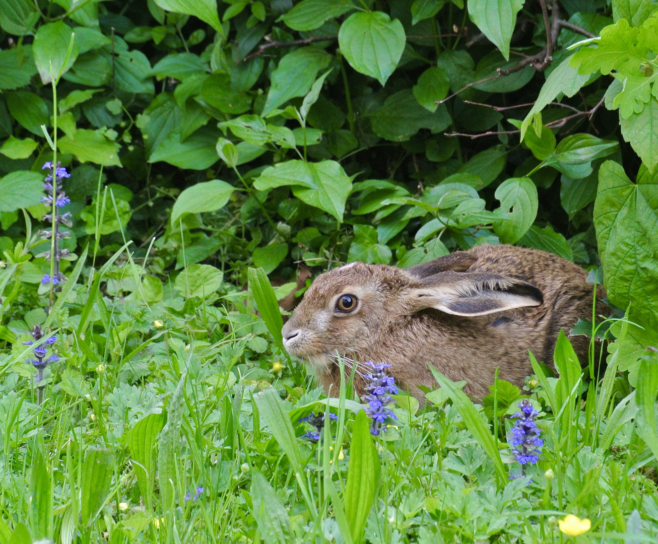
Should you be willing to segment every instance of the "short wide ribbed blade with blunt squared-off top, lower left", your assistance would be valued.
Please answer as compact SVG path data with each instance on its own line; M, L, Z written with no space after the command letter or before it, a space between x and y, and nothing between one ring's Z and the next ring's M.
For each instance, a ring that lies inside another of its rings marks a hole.
M110 493L114 474L114 452L109 449L88 449L82 463L82 495L80 514L83 526L91 525Z

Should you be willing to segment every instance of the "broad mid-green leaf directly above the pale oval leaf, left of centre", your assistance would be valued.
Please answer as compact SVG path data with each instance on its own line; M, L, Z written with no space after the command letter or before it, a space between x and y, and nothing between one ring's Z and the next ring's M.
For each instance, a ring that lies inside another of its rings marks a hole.
M164 161L178 168L205 170L219 160L215 149L218 136L218 130L206 126L182 142L180 134L172 132L153 150L149 162Z

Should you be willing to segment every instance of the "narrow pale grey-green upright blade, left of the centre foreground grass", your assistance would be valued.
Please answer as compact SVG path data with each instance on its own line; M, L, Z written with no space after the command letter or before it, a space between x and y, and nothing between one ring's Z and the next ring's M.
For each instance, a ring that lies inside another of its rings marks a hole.
M187 375L183 373L168 402L167 421L160 434L158 483L165 512L176 507L176 471L178 470L176 463L180 459L180 430L185 407L186 380ZM180 499L181 497L178 497L178 501Z

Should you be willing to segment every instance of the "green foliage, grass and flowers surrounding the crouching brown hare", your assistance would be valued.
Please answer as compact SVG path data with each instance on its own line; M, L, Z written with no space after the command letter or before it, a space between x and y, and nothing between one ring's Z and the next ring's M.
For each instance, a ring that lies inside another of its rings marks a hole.
M658 5L0 0L0 28L0 544L656 542ZM380 367L376 415L282 348L315 274L477 243L590 268L601 360L561 335L559 378L480 405L437 373L423 408Z

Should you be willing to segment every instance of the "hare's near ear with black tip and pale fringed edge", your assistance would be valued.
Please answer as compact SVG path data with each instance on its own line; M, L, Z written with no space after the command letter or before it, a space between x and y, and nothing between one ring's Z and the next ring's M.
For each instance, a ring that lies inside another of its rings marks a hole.
M542 291L534 285L476 272L434 274L410 289L408 296L413 312L434 308L457 316L484 316L544 302Z

